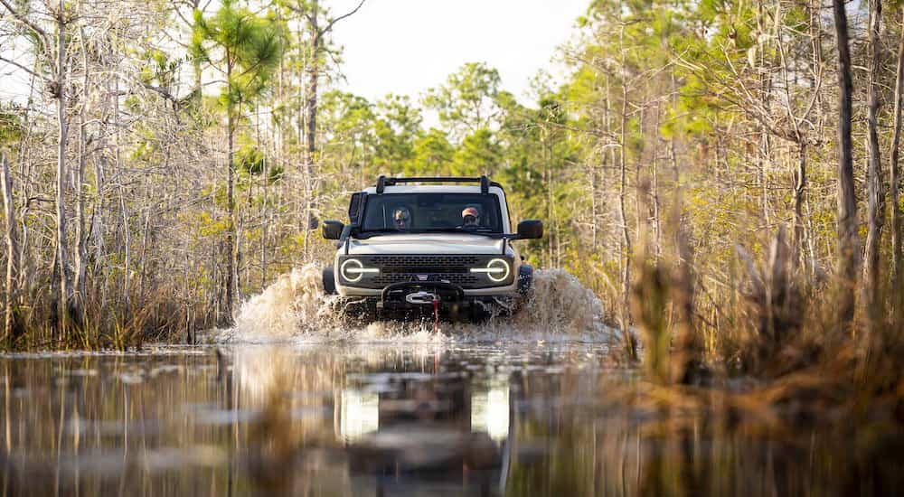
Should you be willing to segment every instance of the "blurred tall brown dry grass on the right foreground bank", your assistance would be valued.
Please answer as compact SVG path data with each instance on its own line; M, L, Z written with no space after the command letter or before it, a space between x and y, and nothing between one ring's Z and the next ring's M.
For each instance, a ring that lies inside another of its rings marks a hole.
M658 387L655 399L636 400L678 406L697 399L726 416L725 407L733 406L767 417L848 419L852 426L904 424L899 292L884 281L876 306L861 304L854 324L844 326L835 317L836 295L851 283L809 279L791 257L785 230L765 241L760 260L738 248L742 271L733 295L710 303L719 307L718 324L701 307L679 312L701 288L683 279L688 272L681 264L638 254L632 317L645 378ZM716 404L706 401L713 390L720 391Z

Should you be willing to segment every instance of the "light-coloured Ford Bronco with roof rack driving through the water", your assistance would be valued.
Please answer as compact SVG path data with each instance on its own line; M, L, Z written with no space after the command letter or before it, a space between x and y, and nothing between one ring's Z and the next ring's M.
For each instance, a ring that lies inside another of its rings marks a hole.
M533 269L510 242L541 238L542 222L512 232L503 187L486 176L380 176L353 193L348 217L323 224L338 240L324 290L346 314L482 320L513 313L531 289Z

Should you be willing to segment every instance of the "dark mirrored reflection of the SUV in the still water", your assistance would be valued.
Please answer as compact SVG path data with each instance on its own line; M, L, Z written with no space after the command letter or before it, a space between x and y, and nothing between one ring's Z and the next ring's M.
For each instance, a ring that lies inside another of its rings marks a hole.
M378 392L376 412L359 404L341 408L344 418L364 414L355 428L374 428L347 445L346 454L351 475L373 476L378 495L449 489L486 495L498 489L499 446L486 433L485 418L482 427L472 424L475 399L485 407L487 392L476 389L466 371L437 366L350 375L364 391L354 399ZM374 414L376 420L369 418Z

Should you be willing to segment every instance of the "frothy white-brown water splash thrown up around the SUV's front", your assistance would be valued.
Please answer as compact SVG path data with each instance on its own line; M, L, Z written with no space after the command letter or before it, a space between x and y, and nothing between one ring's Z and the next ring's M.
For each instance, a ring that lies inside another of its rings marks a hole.
M563 269L537 270L533 292L512 317L484 324L424 322L344 324L335 297L324 295L314 264L282 275L240 307L233 329L220 340L239 342L610 342L616 330L602 323L603 305L593 291ZM429 322L428 322L429 321Z

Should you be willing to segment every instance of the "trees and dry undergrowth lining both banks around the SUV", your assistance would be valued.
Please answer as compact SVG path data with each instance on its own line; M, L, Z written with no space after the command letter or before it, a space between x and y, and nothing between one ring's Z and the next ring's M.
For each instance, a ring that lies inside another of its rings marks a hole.
M2 348L193 342L378 174L486 173L636 329L638 402L904 421L904 9L598 0L531 101L481 62L368 101L362 5L0 0Z

